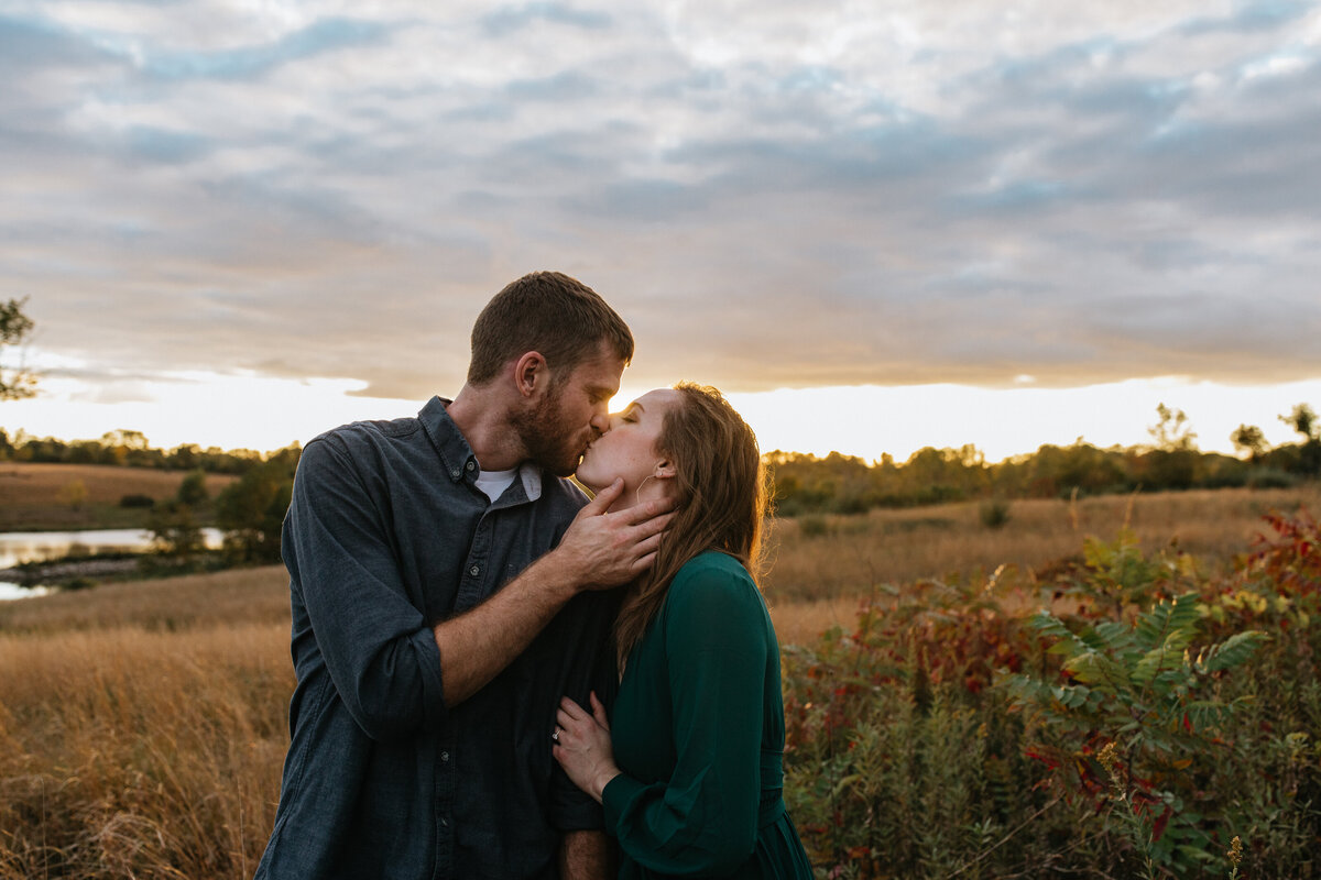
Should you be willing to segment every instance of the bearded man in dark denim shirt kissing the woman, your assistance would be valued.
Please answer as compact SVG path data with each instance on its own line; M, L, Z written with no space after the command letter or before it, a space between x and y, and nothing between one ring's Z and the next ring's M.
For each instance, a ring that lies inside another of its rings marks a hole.
M608 429L633 336L540 272L472 347L452 402L303 451L283 538L299 683L258 880L604 872L598 807L551 756L555 706L613 685L597 590L650 565L667 517L608 515L618 486L584 505L563 478Z

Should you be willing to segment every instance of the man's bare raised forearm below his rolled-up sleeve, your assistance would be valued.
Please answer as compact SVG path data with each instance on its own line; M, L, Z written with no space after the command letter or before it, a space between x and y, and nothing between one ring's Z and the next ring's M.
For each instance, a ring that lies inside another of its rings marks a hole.
M464 702L514 662L576 591L552 551L486 602L436 624L445 706Z

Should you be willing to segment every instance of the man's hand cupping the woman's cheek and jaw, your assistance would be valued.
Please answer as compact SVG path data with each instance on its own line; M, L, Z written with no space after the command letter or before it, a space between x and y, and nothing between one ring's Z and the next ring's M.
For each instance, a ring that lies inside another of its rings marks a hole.
M576 590L608 590L633 581L655 561L674 501L655 499L609 512L624 492L617 479L573 517L552 558L564 582Z

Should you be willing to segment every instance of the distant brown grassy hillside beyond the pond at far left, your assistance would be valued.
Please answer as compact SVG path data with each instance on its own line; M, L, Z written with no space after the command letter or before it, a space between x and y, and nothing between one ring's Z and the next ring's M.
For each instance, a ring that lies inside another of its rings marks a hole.
M178 492L186 474L108 464L0 463L0 532L136 526L145 512L124 509L125 495L155 500ZM209 474L215 496L236 478Z

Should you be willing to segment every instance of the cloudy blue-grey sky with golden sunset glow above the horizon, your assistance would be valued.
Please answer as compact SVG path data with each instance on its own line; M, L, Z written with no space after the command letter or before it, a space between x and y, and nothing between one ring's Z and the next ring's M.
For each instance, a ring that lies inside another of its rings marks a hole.
M535 269L768 450L1321 408L1321 3L0 0L0 82L11 434L411 414Z

